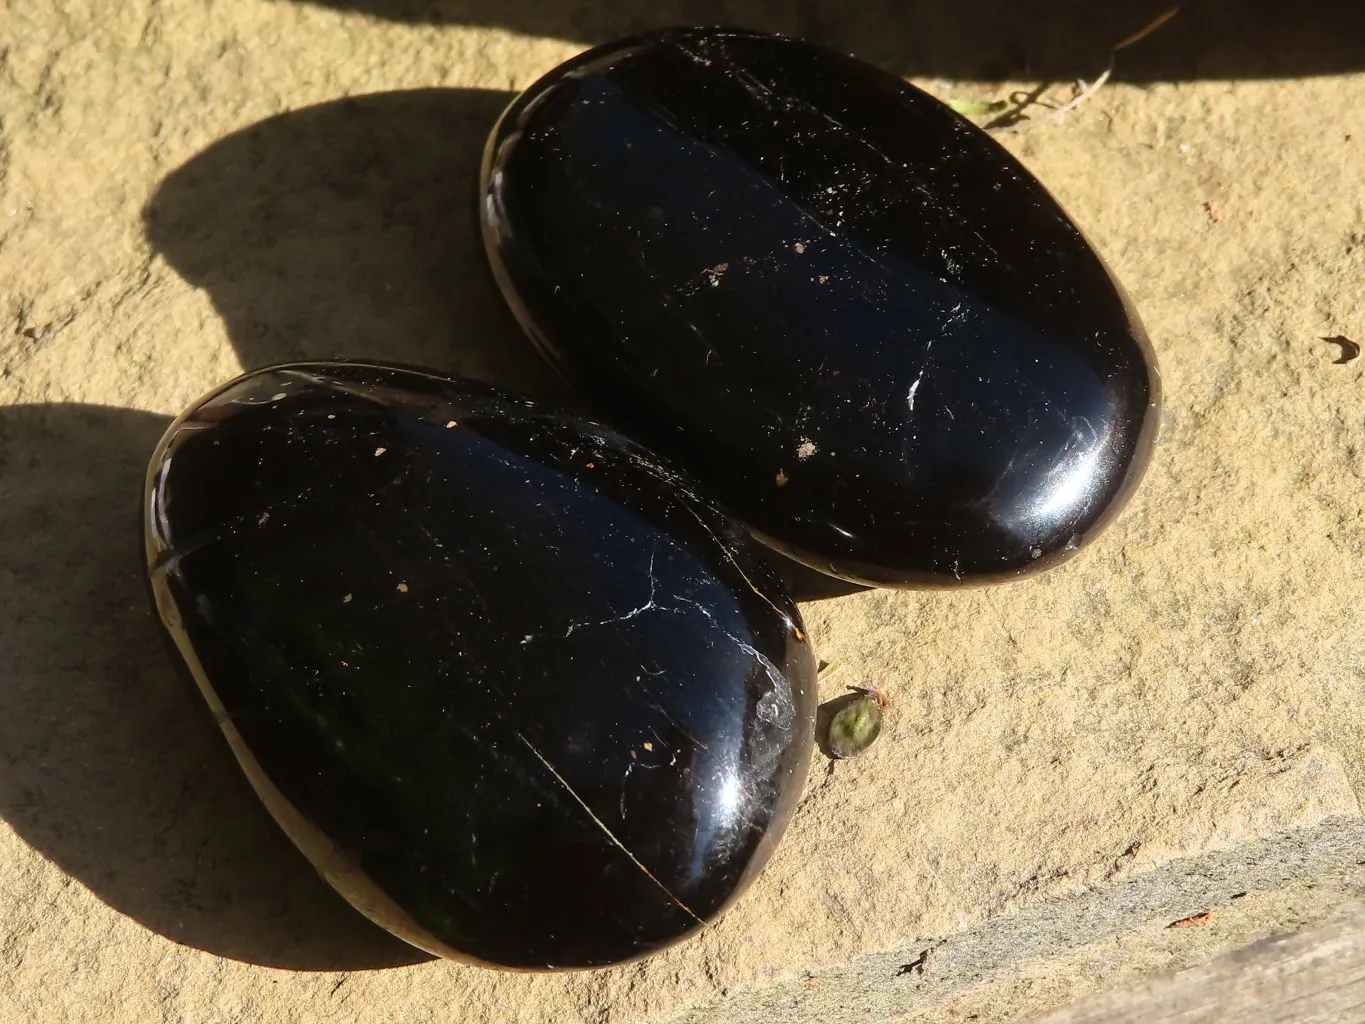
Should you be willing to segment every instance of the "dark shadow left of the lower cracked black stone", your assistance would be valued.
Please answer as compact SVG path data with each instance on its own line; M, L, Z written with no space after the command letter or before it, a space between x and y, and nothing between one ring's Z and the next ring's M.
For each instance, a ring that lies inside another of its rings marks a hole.
M314 874L172 669L138 522L167 425L94 406L0 410L0 816L176 942L293 969L427 960Z

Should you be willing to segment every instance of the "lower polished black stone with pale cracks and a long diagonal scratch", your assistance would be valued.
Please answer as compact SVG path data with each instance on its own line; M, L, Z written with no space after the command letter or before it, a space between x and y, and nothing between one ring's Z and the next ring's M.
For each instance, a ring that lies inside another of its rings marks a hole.
M145 500L162 624L358 908L512 968L652 953L767 859L814 661L760 547L592 422L468 381L261 370Z

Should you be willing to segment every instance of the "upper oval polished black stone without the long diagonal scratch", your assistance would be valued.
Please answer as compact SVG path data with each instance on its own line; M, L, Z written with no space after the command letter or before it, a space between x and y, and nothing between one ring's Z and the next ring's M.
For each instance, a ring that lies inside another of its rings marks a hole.
M504 113L482 220L541 352L816 569L1041 568L1145 466L1156 365L1099 255L853 57L722 29L590 51Z

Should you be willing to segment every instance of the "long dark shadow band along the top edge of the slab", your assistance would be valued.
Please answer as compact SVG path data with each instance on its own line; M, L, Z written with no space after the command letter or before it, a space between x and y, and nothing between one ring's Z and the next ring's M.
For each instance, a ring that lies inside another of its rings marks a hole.
M285 0L276 0L284 3ZM495 26L605 42L665 25L738 25L800 35L915 78L1087 81L1110 48L1174 7L1168 0L304 0L423 25ZM1115 81L1289 78L1365 68L1365 4L1194 0L1122 52ZM546 68L549 70L549 68Z

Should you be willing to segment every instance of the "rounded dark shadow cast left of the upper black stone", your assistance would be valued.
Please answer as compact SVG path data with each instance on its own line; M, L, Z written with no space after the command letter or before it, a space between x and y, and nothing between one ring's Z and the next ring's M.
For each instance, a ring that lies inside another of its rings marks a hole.
M378 93L261 122L161 183L147 238L207 289L246 369L411 363L572 403L479 239L479 161L509 98Z

